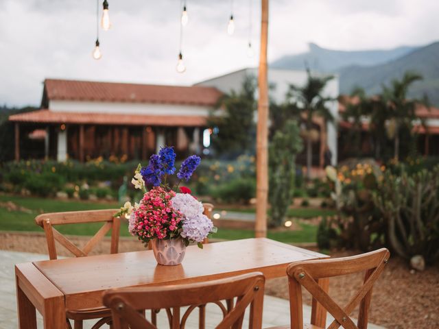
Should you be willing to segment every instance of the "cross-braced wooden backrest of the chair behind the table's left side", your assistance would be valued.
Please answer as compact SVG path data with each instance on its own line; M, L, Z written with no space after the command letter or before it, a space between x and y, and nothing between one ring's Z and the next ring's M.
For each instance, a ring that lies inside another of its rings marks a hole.
M119 229L120 219L114 217L118 209L106 209L106 210L87 210L87 211L69 211L69 212L52 212L47 214L38 215L35 218L37 225L41 226L46 234L47 249L49 250L49 258L56 259L56 245L55 241L58 241L62 246L69 250L74 256L82 257L87 256L93 247L101 241L108 231L111 232L111 247L110 253L117 254L119 247ZM96 234L80 249L74 243L72 243L66 236L62 235L54 226L63 224L75 224L75 223L99 223L104 225L100 228Z

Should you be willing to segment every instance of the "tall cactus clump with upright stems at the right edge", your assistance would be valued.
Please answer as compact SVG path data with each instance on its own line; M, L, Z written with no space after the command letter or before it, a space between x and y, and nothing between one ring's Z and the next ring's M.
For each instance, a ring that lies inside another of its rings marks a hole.
M409 175L386 171L373 202L388 223L394 251L410 259L421 255L427 263L439 258L439 166Z

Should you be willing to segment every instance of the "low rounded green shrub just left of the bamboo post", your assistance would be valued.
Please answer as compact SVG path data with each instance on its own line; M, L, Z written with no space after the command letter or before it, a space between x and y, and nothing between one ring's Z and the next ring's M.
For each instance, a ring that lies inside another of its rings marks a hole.
M248 204L250 199L254 197L255 191L256 181L251 178L243 178L217 186L213 189L213 197L222 202Z

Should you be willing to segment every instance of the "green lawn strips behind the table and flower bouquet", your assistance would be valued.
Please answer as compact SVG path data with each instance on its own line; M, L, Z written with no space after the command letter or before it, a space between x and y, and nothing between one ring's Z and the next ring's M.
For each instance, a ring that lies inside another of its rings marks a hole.
M0 231L25 231L25 232L43 232L39 226L36 226L34 218L41 212L62 212L75 210L95 210L107 208L119 208L119 204L113 203L97 203L97 202L80 202L73 200L43 199L38 197L19 197L0 195L0 202L14 202L17 206L22 206L31 210L31 213L22 211L8 211L0 208ZM227 209L229 211L235 211ZM316 214L315 209L292 209L295 215L292 217L300 217L296 214ZM298 210L304 210L299 212ZM315 210L315 211L311 211ZM324 210L328 211L328 210ZM320 211L321 212L321 211ZM318 215L317 215L318 216ZM310 216L310 217L316 217ZM306 218L306 217L305 217ZM128 225L123 224L126 228L121 229L121 236L130 236L128 233ZM301 230L269 230L268 238L285 243L315 242L317 227L306 223L298 223ZM86 223L59 226L57 229L64 234L74 235L93 235L99 230L102 224ZM212 236L215 239L237 240L254 237L252 230L235 230L222 228Z

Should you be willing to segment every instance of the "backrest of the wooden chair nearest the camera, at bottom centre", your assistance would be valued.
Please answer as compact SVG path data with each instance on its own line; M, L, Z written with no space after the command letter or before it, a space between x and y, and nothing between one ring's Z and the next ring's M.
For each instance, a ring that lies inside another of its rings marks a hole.
M184 328L187 315L180 322L180 307L193 307L207 303L222 306L224 318L217 329L242 327L244 313L250 305L251 329L262 327L262 306L265 278L262 273L247 273L241 276L206 282L176 284L162 287L110 289L104 293L104 305L111 308L115 329L156 329L147 321L140 310L166 308L171 329ZM226 310L222 300L237 302L231 310ZM221 307L220 306L220 307Z

